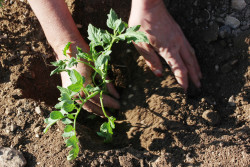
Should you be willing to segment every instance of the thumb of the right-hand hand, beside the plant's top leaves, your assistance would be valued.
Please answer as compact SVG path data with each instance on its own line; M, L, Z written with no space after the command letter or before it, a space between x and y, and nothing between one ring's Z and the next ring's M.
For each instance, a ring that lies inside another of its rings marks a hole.
M144 57L146 64L153 71L153 73L156 76L161 77L162 64L158 55L155 53L155 50L151 47L151 45L144 42L134 45L138 52Z

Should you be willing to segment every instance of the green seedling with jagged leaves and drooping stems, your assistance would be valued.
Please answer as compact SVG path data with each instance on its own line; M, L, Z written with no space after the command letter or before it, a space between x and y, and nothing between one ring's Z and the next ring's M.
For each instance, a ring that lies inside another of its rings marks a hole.
M114 43L120 40L126 40L127 43L132 41L135 43L147 42L148 39L143 32L138 31L140 26L134 26L128 28L128 24L118 18L114 10L110 10L107 19L107 26L113 30L113 33L96 28L89 24L88 26L88 39L90 40L90 52L84 53L81 48L77 47L78 53L76 57L68 57L66 51L70 47L68 43L63 50L63 54L66 56L65 60L59 60L52 62L52 65L56 66L56 69L51 72L51 75L60 72L67 72L72 84L67 88L58 86L61 92L59 103L55 105L56 111L50 113L50 117L45 119L45 123L48 124L44 129L44 133L48 128L61 120L66 126L64 128L63 137L67 147L72 147L67 157L68 160L75 159L79 152L78 139L76 137L76 119L81 111L82 106L91 98L96 95L100 95L100 104L103 114L107 118L107 122L104 122L100 127L100 132L97 134L104 138L104 142L110 142L112 140L113 129L115 128L116 118L108 116L103 106L103 94L107 94L106 84L110 82L107 80L108 65L111 54L111 47ZM96 47L102 48L102 51L97 51ZM76 70L70 69L73 66L77 66L78 63L84 63L94 70L92 75L93 85L83 86L85 78L81 76ZM96 83L96 76L99 75L101 80ZM81 97L80 92L85 94L85 97ZM77 102L78 101L78 102ZM80 101L80 103L79 103Z

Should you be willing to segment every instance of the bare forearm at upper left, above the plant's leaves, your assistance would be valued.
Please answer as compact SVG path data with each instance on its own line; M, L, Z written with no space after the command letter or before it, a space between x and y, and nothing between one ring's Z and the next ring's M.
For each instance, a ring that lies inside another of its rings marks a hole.
M57 54L62 51L68 42L73 42L83 49L88 48L64 0L28 1L43 28L48 42Z

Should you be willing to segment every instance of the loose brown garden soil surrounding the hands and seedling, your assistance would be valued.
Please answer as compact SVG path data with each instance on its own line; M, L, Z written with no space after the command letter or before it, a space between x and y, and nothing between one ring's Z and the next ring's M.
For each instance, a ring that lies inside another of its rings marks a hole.
M68 162L63 126L59 123L42 133L44 119L57 103L56 85L61 84L59 76L49 76L53 50L27 1L5 1L0 9L0 147L20 150L27 166L249 166L246 2L237 11L229 0L165 1L196 50L203 73L200 90L191 85L184 93L166 64L164 76L157 78L133 46L116 45L111 76L122 108L114 113L114 141L104 144L96 135L104 120L87 119L83 111L77 130L80 154ZM106 27L110 8L128 20L130 3L67 0L83 37L89 23ZM218 28L226 15L235 16L241 25L222 37Z

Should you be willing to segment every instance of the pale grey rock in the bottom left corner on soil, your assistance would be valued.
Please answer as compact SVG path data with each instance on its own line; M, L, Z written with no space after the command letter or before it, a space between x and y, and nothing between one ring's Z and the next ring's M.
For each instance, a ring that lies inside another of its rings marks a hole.
M1 167L23 167L26 165L23 154L14 148L0 148L0 165Z

